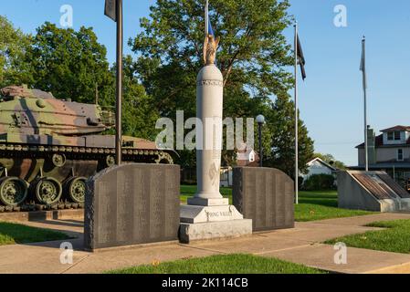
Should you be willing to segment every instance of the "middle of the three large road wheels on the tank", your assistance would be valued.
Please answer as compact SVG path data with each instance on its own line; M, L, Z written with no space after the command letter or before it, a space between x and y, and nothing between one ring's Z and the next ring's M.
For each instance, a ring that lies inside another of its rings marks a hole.
M58 203L62 194L62 186L52 177L42 178L37 181L35 192L38 203L50 205Z

